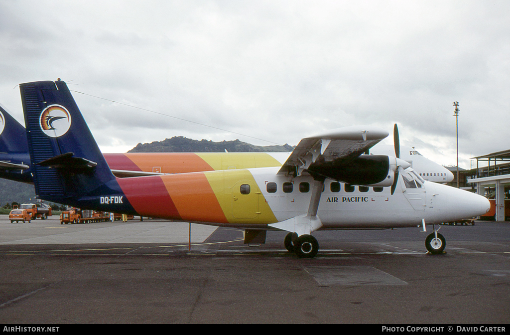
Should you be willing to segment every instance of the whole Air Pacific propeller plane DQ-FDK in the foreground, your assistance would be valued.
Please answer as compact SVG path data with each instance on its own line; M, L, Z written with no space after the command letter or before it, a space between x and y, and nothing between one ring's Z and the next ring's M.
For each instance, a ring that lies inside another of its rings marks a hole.
M346 127L302 139L282 166L118 178L63 81L20 85L36 194L84 209L244 229L246 243L288 231L314 257L318 229L422 226L486 213L486 198L425 181L399 157L365 155L388 132ZM395 132L395 135L398 133ZM398 135L396 136L398 138ZM396 141L398 143L398 140ZM427 250L440 253L434 230Z

